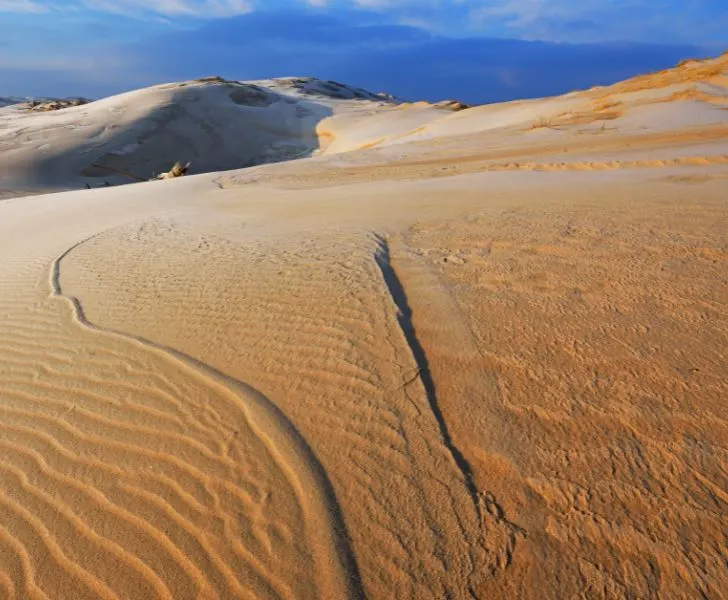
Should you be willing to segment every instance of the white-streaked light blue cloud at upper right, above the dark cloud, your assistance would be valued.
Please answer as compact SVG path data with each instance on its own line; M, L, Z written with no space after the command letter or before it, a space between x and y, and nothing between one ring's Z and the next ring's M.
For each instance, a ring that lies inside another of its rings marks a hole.
M728 44L726 0L329 0L325 4L331 10L379 11L393 21L417 22L451 37Z

